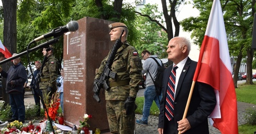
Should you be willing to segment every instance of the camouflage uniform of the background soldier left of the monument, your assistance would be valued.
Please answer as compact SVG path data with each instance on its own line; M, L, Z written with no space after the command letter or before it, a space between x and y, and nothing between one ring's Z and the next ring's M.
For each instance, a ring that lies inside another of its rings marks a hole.
M43 66L39 87L43 91L43 101L46 104L50 102L52 98L52 93L56 92L57 90L56 79L58 77L58 65L59 62L57 61L57 59L53 55L51 55L46 59ZM49 96L49 92L47 91L48 87L52 87L52 91ZM48 98L46 98L47 96Z

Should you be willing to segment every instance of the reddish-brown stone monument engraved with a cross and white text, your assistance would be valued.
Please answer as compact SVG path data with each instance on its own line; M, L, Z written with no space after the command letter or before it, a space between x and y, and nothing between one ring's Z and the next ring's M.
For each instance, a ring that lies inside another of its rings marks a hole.
M91 130L109 130L105 96L98 103L92 96L95 70L113 46L107 20L85 17L77 21L76 32L64 34L64 123L79 127L84 114L91 114Z

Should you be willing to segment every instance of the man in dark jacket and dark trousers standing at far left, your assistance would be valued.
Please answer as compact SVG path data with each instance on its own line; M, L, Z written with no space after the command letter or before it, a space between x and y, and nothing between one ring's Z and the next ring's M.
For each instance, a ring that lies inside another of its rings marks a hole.
M13 57L17 53L13 54ZM27 81L27 72L25 66L21 64L20 57L13 59L13 66L8 72L5 72L0 66L1 76L6 78L6 93L9 94L9 103L13 116L8 122L25 122L25 105L24 105L24 84Z

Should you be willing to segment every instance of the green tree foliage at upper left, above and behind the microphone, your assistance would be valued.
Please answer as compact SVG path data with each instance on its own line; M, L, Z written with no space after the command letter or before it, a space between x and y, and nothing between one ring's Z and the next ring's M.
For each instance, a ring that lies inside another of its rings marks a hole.
M18 6L18 28L20 28L18 29L18 37L20 37L18 51L27 50L27 45L34 38L66 24L69 21L73 5L75 5L75 1L72 0L20 1ZM43 42L45 40L40 41L38 44ZM30 48L36 47L38 44L31 44ZM59 60L59 66L61 66L63 60L63 36L59 37L59 42L53 46L58 48L58 51L54 51L54 56ZM31 61L42 60L42 49L31 52L29 57Z

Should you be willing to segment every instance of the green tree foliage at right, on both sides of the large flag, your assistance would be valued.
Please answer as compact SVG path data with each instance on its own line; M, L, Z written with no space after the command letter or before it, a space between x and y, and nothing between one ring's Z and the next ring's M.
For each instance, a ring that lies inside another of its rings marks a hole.
M181 21L184 31L192 32L191 38L194 38L193 43L201 45L208 17L210 15L212 1L211 0L195 0L194 7L199 9L199 17L190 17ZM253 4L254 2L254 4ZM242 58L247 60L247 74L252 74L252 53L251 50L251 31L253 10L255 10L255 0L233 0L220 1L224 12L224 21L229 45L229 51L232 56L237 57L234 76L239 73ZM248 76L247 84L252 83L252 76ZM237 77L234 77L234 84L237 87Z

